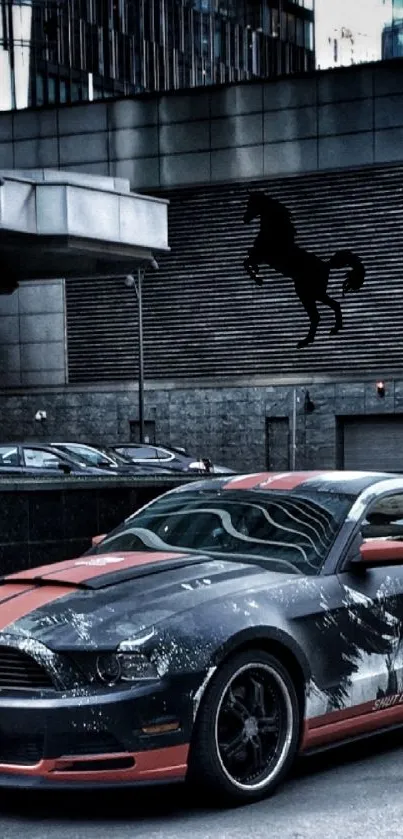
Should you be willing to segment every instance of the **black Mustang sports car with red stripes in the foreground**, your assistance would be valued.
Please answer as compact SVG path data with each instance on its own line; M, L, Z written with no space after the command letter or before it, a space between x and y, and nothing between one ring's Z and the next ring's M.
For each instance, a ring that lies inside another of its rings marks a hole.
M403 724L403 478L212 478L0 588L0 785L270 793Z

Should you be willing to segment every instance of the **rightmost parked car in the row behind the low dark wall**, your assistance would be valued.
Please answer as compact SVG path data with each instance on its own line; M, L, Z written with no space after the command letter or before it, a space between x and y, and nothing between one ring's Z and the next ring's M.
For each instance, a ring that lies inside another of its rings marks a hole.
M234 475L227 466L214 465L209 458L191 457L185 449L151 446L148 443L118 443L112 446L115 452L129 457L134 463L147 464L152 468L163 466L172 472L211 472L216 475Z

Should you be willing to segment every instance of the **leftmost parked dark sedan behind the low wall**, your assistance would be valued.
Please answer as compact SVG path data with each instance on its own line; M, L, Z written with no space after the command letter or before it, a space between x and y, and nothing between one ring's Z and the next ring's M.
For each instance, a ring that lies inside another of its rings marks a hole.
M106 469L89 466L82 459L57 449L35 443L2 443L0 445L1 475L38 474L110 474Z

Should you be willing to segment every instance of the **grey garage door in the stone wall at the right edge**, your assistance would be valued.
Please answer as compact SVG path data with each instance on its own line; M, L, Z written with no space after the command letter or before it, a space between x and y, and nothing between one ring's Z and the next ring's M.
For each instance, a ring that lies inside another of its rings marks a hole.
M403 472L403 417L341 421L344 469Z

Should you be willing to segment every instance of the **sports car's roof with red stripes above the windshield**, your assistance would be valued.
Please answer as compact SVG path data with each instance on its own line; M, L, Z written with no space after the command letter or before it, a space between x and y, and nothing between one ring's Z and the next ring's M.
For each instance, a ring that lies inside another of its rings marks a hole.
M314 490L359 495L373 484L385 480L396 480L403 475L392 472L348 472L341 470L318 470L306 472L255 472L250 475L231 475L185 484L174 492L192 490Z

